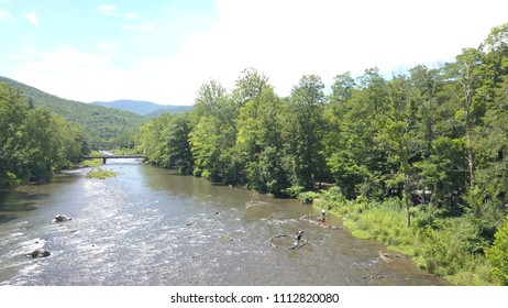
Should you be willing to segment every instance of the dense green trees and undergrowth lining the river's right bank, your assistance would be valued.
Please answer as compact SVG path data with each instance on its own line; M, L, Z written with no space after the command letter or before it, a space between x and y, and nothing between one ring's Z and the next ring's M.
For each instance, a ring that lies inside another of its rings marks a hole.
M372 213L358 234L457 284L508 284L508 24L442 66L341 73L323 89L305 75L281 98L245 69L230 92L205 84L195 112L143 125L140 147L155 165L276 196L333 184L310 196L346 219Z

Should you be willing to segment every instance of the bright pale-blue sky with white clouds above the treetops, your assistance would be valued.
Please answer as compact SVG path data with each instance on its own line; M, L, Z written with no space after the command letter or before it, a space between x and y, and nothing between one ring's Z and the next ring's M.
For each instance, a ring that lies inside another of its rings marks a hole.
M303 75L437 67L508 22L506 0L0 0L0 76L58 97L192 105L249 67Z

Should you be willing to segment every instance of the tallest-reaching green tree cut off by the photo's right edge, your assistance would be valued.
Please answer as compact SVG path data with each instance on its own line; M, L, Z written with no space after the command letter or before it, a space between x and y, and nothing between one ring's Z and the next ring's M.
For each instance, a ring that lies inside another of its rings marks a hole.
M494 28L482 48L485 69L478 91L487 106L474 130L476 182L484 197L503 206L508 202L508 23Z

